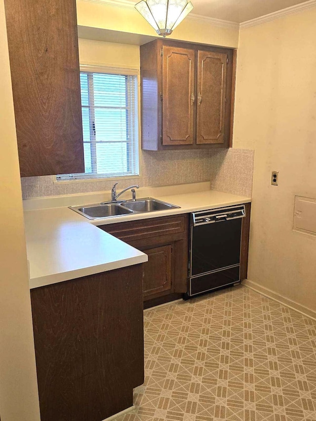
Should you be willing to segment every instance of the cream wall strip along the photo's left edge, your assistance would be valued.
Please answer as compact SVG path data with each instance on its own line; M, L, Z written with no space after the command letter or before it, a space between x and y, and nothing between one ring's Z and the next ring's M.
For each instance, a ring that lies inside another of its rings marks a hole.
M0 417L40 420L20 171L0 0Z

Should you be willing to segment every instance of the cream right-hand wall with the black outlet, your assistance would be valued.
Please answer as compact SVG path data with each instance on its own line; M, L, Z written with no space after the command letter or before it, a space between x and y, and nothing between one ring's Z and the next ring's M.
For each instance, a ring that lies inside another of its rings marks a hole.
M255 149L248 278L314 315L316 237L292 225L294 196L316 197L315 22L313 8L240 31L234 128Z

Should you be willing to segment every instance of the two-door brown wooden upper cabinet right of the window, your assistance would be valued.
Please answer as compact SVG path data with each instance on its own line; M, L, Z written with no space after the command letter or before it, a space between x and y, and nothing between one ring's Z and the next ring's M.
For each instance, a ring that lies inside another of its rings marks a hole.
M161 39L141 45L142 149L230 146L233 53Z

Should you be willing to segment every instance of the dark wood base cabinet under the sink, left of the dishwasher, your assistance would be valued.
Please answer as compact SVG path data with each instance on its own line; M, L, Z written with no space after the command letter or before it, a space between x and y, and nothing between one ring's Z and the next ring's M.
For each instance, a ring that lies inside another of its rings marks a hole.
M182 297L188 289L189 214L99 226L148 255L144 307Z

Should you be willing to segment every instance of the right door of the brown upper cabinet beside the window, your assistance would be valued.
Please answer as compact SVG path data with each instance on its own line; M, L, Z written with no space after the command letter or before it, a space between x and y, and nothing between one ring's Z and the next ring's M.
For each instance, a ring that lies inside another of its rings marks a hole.
M227 54L197 53L197 144L224 143Z

